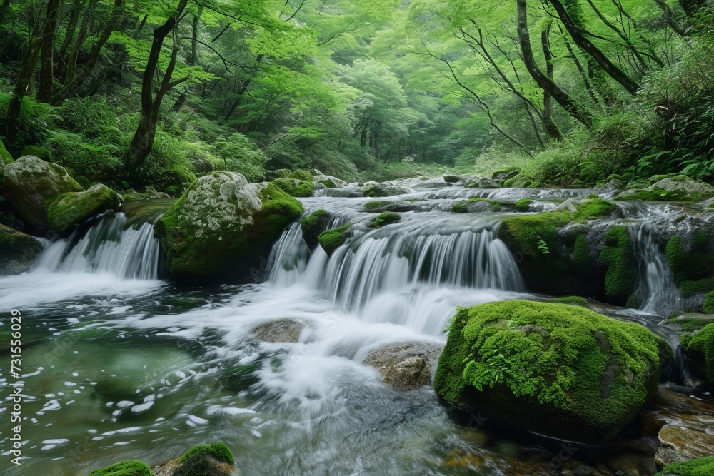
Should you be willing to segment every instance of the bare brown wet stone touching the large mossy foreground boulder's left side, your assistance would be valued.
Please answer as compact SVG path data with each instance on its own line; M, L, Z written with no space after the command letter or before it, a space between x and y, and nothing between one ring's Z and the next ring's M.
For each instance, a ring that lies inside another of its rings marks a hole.
M364 363L379 370L384 383L396 390L416 390L431 385L442 349L428 343L390 344L371 353Z

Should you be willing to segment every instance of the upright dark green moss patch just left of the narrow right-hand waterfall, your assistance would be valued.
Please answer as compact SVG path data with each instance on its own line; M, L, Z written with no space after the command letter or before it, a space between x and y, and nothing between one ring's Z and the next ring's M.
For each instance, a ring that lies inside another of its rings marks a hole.
M605 235L605 246L600 251L600 262L607 268L605 295L613 303L627 303L637 280L633 244L627 227L617 225L610 228Z

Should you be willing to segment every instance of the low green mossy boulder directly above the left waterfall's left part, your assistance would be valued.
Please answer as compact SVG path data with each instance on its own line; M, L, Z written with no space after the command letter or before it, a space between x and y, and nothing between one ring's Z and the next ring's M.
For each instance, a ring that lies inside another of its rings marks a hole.
M47 200L47 223L59 236L69 236L87 218L116 210L120 204L115 191L97 183L84 192L61 193Z

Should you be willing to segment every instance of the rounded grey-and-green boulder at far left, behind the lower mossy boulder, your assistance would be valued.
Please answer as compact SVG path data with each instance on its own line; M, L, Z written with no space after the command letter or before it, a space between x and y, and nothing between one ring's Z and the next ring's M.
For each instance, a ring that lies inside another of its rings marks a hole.
M84 191L69 173L56 163L35 156L23 156L6 165L4 195L30 228L49 230L45 201L60 193Z

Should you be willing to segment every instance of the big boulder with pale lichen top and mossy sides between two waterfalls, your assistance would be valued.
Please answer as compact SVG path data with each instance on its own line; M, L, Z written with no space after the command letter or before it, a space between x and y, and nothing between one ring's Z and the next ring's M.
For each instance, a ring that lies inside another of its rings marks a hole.
M198 178L156 222L166 267L176 280L239 275L257 265L303 206L273 183L239 173Z

